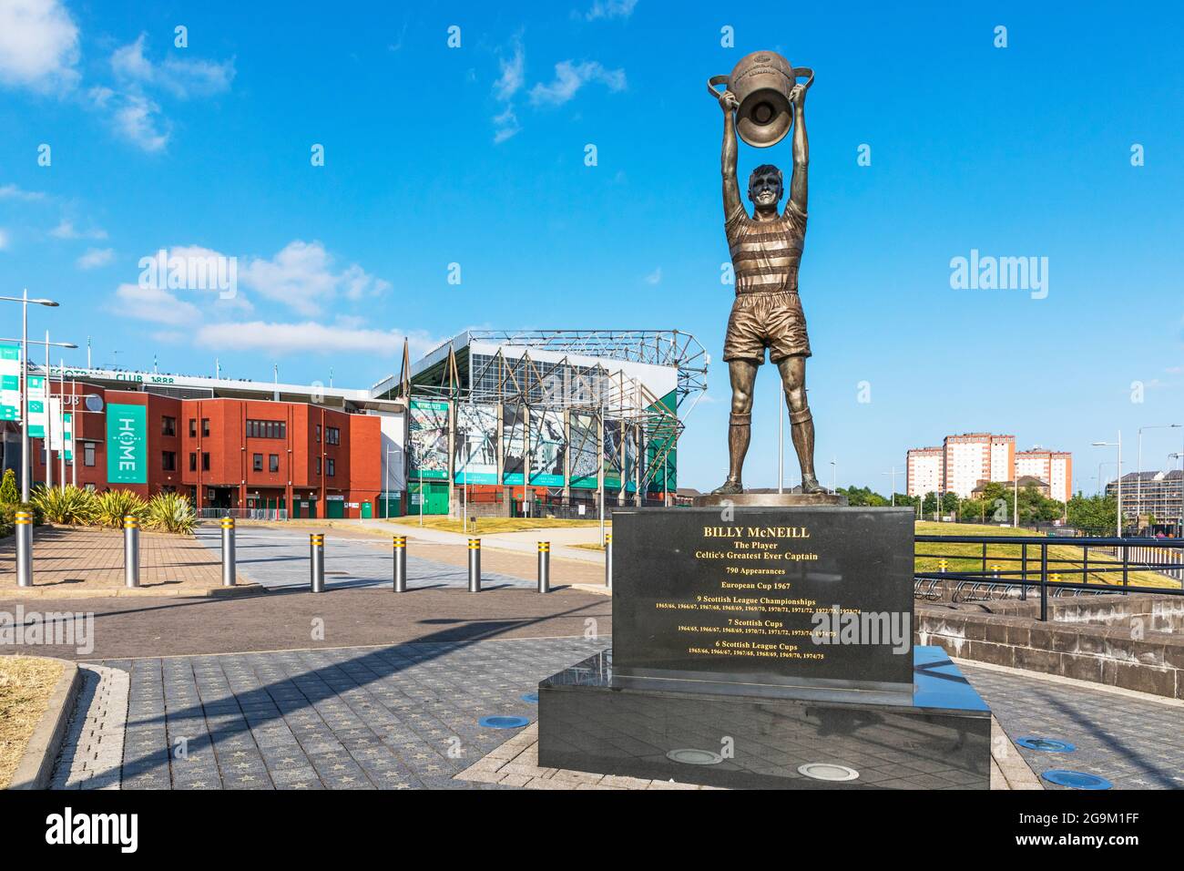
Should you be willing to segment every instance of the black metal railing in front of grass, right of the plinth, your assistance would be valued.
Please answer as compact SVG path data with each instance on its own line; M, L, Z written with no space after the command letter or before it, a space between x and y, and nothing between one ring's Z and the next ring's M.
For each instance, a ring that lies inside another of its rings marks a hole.
M926 601L947 596L951 602L1027 601L1029 590L1035 590L1040 595L1040 619L1047 620L1050 597L1184 594L1184 539L1179 538L916 536L915 542L916 559L939 561L937 571L913 572L913 595ZM932 544L972 549L929 552L927 545ZM1080 555L1066 556L1067 549L1076 549ZM1146 571L1159 575L1165 584L1131 582L1132 572Z

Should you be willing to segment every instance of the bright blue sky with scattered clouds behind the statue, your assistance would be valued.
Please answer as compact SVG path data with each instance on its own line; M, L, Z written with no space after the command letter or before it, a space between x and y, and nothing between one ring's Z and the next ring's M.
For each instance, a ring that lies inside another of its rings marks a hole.
M835 457L887 492L907 448L986 430L1074 451L1089 492L1112 460L1092 441L1121 429L1130 470L1138 427L1184 423L1177 5L362 6L0 0L2 293L63 302L32 329L91 337L96 364L368 386L404 335L677 328L712 356L681 482L715 486L733 290L704 82L772 49L817 76L800 288L824 482ZM787 171L787 142L741 146L744 177L761 162ZM160 249L237 257L237 295L140 287ZM953 289L972 249L1047 257L1047 296ZM772 486L771 366L757 392L746 482ZM1145 433L1144 466L1182 431Z

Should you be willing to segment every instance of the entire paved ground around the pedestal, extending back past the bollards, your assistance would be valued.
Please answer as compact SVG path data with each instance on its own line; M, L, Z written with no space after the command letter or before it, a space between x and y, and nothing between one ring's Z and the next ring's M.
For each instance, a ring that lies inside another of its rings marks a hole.
M193 547L198 555L173 558L215 570L215 533L204 532ZM56 609L94 614L95 648L39 651L83 666L54 786L562 786L562 777L542 783L495 764L498 752L529 755L530 725L506 730L480 721L522 717L533 725L538 705L527 697L539 680L610 646L611 598L571 585L540 595L533 559L496 551L484 555L485 590L469 594L463 546L418 542L410 550L411 590L394 594L384 537L330 534L329 589L314 595L307 591L307 533L244 529L242 571L266 588L253 595L56 601ZM565 565L603 577L599 566ZM13 610L17 601L0 598L0 609ZM961 667L1012 741L1076 745L1072 754L1021 750L1037 775L1068 768L1119 788L1184 786L1184 705L973 662ZM457 776L464 771L469 776Z

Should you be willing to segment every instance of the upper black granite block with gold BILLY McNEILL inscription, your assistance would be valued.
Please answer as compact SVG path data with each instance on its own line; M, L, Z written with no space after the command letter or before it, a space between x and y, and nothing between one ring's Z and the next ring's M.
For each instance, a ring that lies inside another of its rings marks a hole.
M617 511L612 546L618 677L910 690L909 508Z

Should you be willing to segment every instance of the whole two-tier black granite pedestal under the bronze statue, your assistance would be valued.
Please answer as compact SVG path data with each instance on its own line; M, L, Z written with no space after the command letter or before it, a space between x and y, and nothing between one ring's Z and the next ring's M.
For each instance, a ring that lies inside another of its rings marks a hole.
M540 766L989 788L990 710L913 647L909 508L623 511L613 550L613 648L539 685Z

